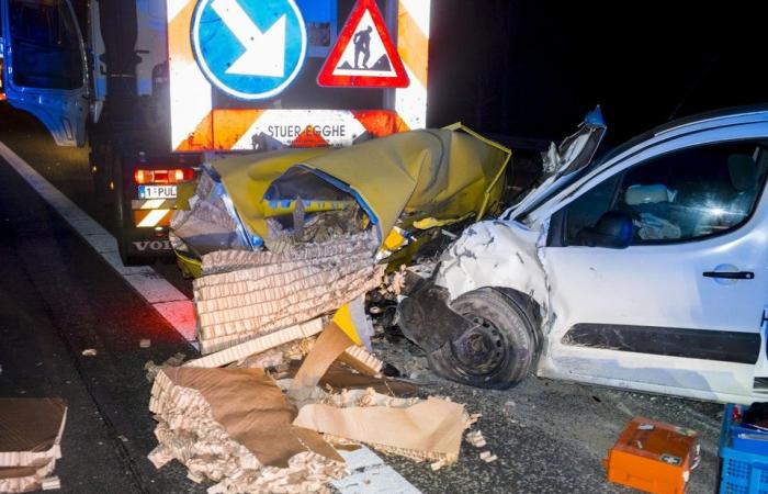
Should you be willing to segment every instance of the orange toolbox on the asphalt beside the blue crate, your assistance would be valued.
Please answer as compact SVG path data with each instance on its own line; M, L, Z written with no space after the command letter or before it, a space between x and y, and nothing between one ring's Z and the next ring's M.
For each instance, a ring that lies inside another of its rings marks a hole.
M696 430L633 418L608 451L608 480L653 493L682 494L700 459Z

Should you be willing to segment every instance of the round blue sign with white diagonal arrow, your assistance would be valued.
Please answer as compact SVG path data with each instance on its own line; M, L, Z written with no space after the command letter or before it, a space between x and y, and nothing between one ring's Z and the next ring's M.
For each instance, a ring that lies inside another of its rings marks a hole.
M236 98L261 100L296 78L307 35L294 0L201 0L192 45L214 86Z

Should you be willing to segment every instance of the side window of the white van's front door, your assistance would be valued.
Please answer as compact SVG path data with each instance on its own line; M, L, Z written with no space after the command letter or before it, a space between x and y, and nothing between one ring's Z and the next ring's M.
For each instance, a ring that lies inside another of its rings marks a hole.
M566 207L566 245L608 211L629 214L632 245L703 238L744 224L768 172L758 143L692 147L644 161L592 188ZM617 180L621 184L615 190ZM615 191L615 192L613 192Z

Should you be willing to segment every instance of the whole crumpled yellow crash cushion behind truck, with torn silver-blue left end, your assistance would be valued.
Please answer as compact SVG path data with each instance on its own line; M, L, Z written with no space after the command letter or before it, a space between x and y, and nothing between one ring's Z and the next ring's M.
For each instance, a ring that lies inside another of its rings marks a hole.
M201 273L218 250L280 251L366 229L391 265L448 225L498 213L511 151L455 124L349 148L285 149L203 166L180 191L171 243Z

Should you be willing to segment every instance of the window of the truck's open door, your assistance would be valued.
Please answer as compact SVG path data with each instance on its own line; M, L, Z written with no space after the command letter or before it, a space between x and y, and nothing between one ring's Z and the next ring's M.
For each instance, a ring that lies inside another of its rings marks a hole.
M26 88L78 89L83 67L76 20L64 0L10 0L13 83Z

